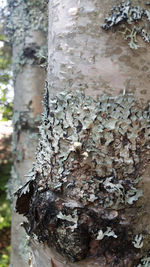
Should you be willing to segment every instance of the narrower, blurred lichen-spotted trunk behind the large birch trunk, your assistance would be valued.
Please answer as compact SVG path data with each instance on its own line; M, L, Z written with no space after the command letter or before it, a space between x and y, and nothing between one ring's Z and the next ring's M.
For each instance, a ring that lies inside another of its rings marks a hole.
M29 177L39 138L41 100L45 83L47 4L45 1L9 0L8 33L12 43L14 74L14 165L9 184L12 196L11 266L28 266L30 249L21 227L24 220L15 212L14 192ZM44 52L45 51L45 52Z

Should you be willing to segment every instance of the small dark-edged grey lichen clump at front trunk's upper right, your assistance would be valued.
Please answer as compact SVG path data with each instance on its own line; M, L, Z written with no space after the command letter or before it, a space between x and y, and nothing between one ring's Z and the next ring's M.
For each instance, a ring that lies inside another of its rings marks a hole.
M140 35L145 42L150 42L150 33L147 31L149 22L150 10L133 6L130 1L127 1L111 9L111 14L105 18L102 28L108 30L116 25L121 25L120 29L123 30L124 39L129 40L130 48L137 49L139 47L137 35Z

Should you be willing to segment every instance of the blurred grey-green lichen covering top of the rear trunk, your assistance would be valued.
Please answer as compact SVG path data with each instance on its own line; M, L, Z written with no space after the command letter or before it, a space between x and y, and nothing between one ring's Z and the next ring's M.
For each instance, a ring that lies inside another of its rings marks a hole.
M47 3L44 0L9 0L8 10L7 33L15 51L17 47L13 56L14 75L26 63L46 66ZM43 36L37 38L41 33Z

